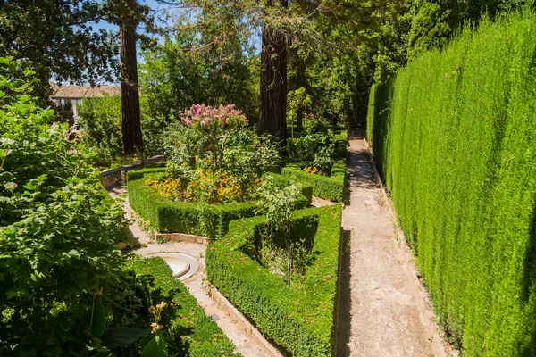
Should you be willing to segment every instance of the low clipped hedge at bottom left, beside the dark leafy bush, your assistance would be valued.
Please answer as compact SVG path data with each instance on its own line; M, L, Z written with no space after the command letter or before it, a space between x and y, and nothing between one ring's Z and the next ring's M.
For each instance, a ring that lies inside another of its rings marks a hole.
M236 356L235 346L216 323L206 316L188 288L173 278L162 258L131 259L128 266L138 279L147 277L151 304L166 302L163 310L164 337L177 356Z

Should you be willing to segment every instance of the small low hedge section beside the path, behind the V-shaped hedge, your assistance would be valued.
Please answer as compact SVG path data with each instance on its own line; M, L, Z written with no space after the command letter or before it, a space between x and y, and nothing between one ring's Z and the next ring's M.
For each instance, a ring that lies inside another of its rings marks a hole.
M289 163L281 169L281 175L311 185L314 196L341 203L345 188L345 164L344 159L335 162L331 169L331 176L328 177L304 172L299 163Z

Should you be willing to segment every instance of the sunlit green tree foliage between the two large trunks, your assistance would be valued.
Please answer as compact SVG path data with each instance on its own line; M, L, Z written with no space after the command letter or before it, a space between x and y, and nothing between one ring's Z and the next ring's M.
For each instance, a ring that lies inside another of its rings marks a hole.
M173 120L193 104L236 104L247 118L258 117L258 86L250 84L259 64L243 51L247 39L233 33L216 42L210 32L175 25L175 37L145 52L145 63L139 65L147 113Z

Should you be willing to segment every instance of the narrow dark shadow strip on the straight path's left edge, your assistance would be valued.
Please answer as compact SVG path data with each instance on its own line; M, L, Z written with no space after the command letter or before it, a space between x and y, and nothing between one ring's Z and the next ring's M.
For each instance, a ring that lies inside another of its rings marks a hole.
M340 273L339 273L339 292L338 301L339 306L337 311L339 316L337 317L337 345L336 356L346 357L350 355L350 348L348 343L350 341L350 308L351 308L351 287L350 287L350 238L352 232L349 230L342 231L341 237L341 259L340 259Z

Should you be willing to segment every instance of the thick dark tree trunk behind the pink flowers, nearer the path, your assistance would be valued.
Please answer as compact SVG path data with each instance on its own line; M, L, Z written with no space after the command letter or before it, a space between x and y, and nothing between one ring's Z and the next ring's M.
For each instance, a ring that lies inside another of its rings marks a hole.
M287 6L287 0L280 1ZM285 35L263 26L263 49L261 53L261 103L258 124L259 135L268 133L287 138L287 41Z

